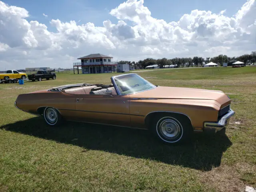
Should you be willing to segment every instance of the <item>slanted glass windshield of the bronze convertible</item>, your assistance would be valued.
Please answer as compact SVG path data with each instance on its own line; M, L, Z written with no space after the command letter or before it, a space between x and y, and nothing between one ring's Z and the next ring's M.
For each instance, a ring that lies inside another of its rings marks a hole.
M114 78L121 95L131 94L156 88L153 84L137 74L124 75Z

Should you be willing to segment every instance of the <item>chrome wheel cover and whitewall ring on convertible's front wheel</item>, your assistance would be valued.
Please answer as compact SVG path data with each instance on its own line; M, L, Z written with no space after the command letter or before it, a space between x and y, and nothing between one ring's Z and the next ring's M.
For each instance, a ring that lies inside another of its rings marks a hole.
M178 120L172 117L163 117L156 124L158 136L165 142L178 142L182 138L183 128Z

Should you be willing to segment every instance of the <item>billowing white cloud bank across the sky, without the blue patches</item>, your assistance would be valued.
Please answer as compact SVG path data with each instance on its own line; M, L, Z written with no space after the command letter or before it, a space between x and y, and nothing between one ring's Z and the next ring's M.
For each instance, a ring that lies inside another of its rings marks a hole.
M0 1L0 70L31 66L72 67L91 53L114 60L146 57L236 56L256 50L256 2L248 0L232 17L226 10L192 10L178 22L151 16L143 0L127 0L110 11L116 24L51 20L56 32L38 21L28 22L28 10ZM46 14L43 16L47 17ZM132 26L128 25L132 23Z

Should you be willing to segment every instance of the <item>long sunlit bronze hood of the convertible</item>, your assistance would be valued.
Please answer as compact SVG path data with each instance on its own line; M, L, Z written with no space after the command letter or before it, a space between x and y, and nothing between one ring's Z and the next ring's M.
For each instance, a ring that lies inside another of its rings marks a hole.
M136 94L130 94L131 98L158 98L158 99L201 99L215 100L219 103L227 102L230 99L222 91L206 90L195 88L181 87L164 87L156 88Z

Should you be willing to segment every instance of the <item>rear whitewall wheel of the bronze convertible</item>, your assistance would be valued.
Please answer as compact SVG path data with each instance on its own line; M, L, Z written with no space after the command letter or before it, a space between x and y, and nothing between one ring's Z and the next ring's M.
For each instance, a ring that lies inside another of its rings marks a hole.
M62 118L56 109L47 107L44 109L44 120L48 125L54 126L60 124Z

